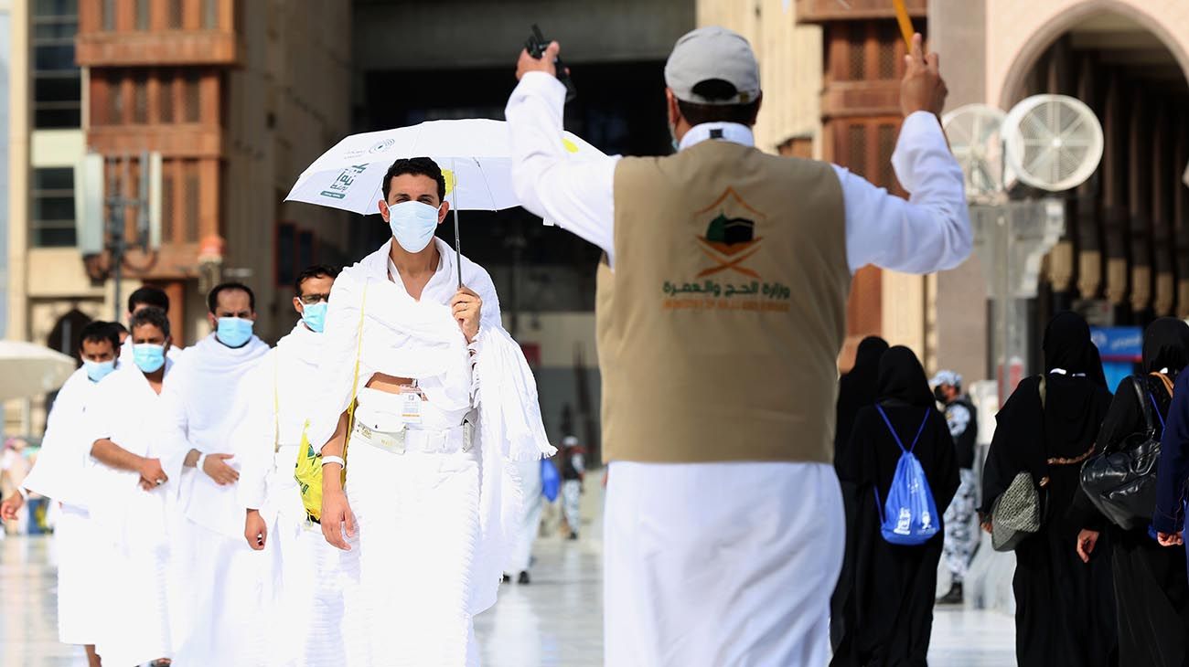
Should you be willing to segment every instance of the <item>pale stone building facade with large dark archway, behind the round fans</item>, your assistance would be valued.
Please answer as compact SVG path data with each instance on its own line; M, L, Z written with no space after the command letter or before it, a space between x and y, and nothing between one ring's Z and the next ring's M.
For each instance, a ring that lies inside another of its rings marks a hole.
M1009 109L1057 93L1099 117L1105 151L1095 174L1059 193L1065 233L1045 258L1028 305L1040 363L1045 320L1065 309L1094 324L1143 326L1189 317L1189 5L1179 0L931 0L933 46L950 83L950 108ZM1013 198L1039 193L1015 188ZM986 358L980 259L942 274L938 354L975 377ZM993 323L992 323L993 324ZM956 360L956 361L955 361Z

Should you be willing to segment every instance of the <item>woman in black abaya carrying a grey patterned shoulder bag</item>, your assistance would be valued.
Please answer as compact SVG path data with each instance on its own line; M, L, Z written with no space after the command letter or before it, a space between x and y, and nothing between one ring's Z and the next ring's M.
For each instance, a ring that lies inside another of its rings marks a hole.
M1070 516L1081 494L1081 464L1111 404L1084 319L1063 312L1049 323L1044 367L1044 375L1020 382L995 418L980 512L989 526L994 501L1021 471L1045 481L1044 523L1015 550L1019 667L1111 666L1116 663L1111 564L1102 557L1082 563L1074 548L1081 526Z

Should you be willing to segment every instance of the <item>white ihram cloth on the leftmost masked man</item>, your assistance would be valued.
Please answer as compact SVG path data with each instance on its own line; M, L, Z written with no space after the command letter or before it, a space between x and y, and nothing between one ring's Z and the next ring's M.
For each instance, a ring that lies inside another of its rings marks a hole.
M21 482L24 490L62 503L54 527L58 565L58 641L92 644L106 614L99 583L102 564L92 554L100 536L90 519L90 477L87 459L90 440L82 428L97 383L80 368L58 390L45 424L37 462Z

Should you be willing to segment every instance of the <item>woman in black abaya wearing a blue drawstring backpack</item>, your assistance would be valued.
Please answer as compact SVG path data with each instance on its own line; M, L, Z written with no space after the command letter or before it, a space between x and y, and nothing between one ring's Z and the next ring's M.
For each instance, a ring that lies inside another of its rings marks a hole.
M888 489L901 450L875 406L858 411L839 478L855 485L855 568L848 599L856 610L831 662L849 666L924 666L933 627L937 564L942 558L940 513L958 488L954 439L937 411L925 370L908 348L880 360L877 405L905 447L920 462L937 506L938 532L919 546L899 546L880 533L880 498ZM913 438L920 432L913 445Z

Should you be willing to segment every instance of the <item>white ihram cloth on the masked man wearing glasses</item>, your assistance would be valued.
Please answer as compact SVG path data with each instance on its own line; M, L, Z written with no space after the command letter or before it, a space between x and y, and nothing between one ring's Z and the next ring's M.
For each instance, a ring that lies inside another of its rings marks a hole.
M251 433L239 497L268 525L270 667L338 665L344 655L339 552L307 521L294 478L302 430L320 394L321 343L321 333L297 322L245 379Z

